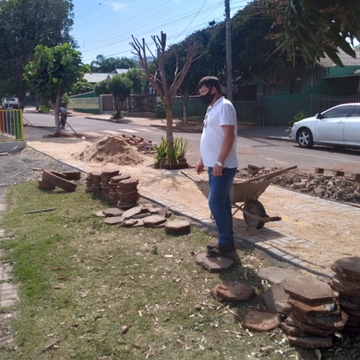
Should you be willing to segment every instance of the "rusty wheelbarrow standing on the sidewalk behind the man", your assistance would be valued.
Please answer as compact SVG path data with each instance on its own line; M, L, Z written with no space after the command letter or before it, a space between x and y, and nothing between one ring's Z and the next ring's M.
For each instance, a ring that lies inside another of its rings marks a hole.
M203 195L206 198L209 197L210 187L208 179L203 179L203 177L199 176L192 177L185 171L181 171L181 174L194 181ZM256 229L261 229L265 223L280 221L281 218L279 216L269 216L265 211L265 207L258 201L260 195L267 190L271 183L272 181L243 183L240 179L234 179L230 189L230 201L235 209L232 216L240 210L240 212L243 212L244 221L247 226L255 227ZM239 203L242 204L238 205Z

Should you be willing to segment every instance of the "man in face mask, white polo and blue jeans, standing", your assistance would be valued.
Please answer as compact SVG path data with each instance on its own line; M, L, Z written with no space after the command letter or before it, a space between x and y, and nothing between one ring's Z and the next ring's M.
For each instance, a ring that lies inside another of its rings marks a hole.
M209 173L209 207L218 229L218 243L207 245L207 256L226 256L235 249L230 188L238 168L236 157L236 111L221 96L218 78L206 76L199 82L200 99L209 105L201 136L201 159L196 172L207 166Z

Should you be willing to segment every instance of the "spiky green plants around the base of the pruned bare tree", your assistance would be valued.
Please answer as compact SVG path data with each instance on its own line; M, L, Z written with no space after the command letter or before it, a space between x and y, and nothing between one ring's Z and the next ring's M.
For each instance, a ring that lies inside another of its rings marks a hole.
M176 164L178 159L183 159L190 150L188 139L183 140L183 137L176 137L174 140L174 146L169 148L168 142L165 137L161 137L159 146L154 146L156 151L155 155L155 168L161 168L164 160L168 160L170 167L172 164Z

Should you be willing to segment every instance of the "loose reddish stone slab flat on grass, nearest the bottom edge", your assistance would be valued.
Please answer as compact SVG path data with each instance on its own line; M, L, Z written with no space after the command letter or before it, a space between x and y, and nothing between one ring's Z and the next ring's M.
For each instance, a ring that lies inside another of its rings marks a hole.
M256 331L270 331L280 326L280 315L262 309L250 310L239 318L241 325Z

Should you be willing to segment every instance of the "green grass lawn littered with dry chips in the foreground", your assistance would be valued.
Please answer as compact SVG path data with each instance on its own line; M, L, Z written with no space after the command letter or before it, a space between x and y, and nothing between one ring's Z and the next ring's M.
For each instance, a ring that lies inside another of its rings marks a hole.
M24 214L49 207L56 210ZM238 249L235 269L209 273L194 256L209 242L207 232L192 228L175 237L164 229L108 227L93 215L106 207L82 186L46 192L29 181L9 189L2 226L16 238L0 247L14 267L19 302L0 309L13 313L14 337L11 348L0 347L1 360L317 359L313 350L290 348L281 330L241 328L235 315L263 307L258 295L233 304L210 295L223 280L263 291L256 273L267 260ZM266 355L265 346L273 346ZM323 350L323 359L333 354Z

